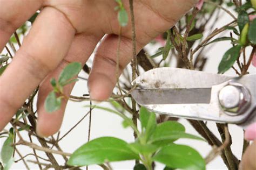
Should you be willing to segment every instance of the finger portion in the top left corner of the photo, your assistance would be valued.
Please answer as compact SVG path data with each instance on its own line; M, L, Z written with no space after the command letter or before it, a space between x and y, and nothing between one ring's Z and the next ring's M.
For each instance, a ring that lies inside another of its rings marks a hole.
M19 26L25 23L39 8L42 1L0 1L0 52Z

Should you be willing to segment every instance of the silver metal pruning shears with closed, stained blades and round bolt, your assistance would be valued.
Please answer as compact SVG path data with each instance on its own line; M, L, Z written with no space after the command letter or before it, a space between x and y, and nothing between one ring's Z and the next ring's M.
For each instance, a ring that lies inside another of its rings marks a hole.
M163 67L132 83L134 100L159 114L242 128L256 122L256 74L234 77Z

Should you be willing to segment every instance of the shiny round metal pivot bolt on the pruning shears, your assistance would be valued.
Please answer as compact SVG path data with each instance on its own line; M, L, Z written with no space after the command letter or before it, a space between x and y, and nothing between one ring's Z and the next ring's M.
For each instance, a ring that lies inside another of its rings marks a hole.
M250 106L251 95L242 84L229 82L219 92L219 103L226 114L240 115Z

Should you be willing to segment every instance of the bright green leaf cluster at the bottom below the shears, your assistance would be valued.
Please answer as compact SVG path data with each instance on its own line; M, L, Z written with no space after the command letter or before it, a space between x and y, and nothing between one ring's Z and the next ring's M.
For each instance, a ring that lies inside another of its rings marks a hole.
M132 126L132 119L117 111L103 108L124 119L126 125ZM156 114L142 107L139 111L141 130L134 143L114 137L93 139L79 147L70 157L71 166L87 166L104 164L105 162L140 160L142 164L134 169L152 169L152 162L160 162L169 168L205 169L205 161L193 148L174 144L180 138L204 140L192 134L185 133L185 127L178 122L164 122L157 124ZM135 127L136 128L136 127Z

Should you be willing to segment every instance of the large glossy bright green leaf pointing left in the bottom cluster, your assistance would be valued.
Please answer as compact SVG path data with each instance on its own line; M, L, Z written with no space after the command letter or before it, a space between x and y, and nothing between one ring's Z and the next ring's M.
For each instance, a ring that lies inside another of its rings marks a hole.
M124 140L102 137L79 147L71 155L68 165L85 166L132 159L139 159L139 155L134 153Z

